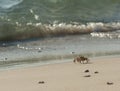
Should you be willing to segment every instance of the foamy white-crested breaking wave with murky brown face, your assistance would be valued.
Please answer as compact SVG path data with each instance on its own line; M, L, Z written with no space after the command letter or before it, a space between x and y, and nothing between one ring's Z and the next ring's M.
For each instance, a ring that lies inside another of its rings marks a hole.
M79 24L76 22L71 22L70 24L55 22L54 24L27 23L26 25L16 22L16 24L1 24L0 27L0 40L21 40L76 34L91 34L93 37L113 36L120 38L119 32L117 32L117 30L120 30L119 22L90 22L86 24Z

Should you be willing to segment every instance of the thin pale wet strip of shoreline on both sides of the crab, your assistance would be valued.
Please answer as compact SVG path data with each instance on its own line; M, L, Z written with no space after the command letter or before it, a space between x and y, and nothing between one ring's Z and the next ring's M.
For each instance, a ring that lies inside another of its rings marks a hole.
M110 57L120 57L120 55L104 55L104 56L95 56L90 57L90 59L104 59L104 58L110 58ZM54 65L54 64L62 64L62 63L68 63L72 62L74 58L67 58L67 59L54 59L54 60L48 60L48 61L38 61L38 62L28 62L28 63L15 63L11 65L6 65L0 68L0 71L6 71L6 70L16 70L16 69L24 69L24 68L30 68L30 67L38 67L38 66L46 66L46 65Z

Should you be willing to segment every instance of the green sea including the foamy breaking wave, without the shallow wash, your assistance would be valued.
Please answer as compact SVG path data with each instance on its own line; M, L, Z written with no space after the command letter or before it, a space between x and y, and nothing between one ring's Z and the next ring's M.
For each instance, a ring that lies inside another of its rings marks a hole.
M119 30L119 7L119 0L0 0L0 40Z

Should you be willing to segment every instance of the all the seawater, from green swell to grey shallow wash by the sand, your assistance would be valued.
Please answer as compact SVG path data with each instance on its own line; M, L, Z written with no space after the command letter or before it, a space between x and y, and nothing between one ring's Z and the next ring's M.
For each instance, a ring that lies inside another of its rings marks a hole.
M119 0L0 0L0 67L120 55Z

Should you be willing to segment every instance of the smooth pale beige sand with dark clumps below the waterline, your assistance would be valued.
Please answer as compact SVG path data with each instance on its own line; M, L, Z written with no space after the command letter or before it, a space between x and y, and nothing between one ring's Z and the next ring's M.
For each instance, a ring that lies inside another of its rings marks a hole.
M120 57L0 71L0 91L120 91Z

